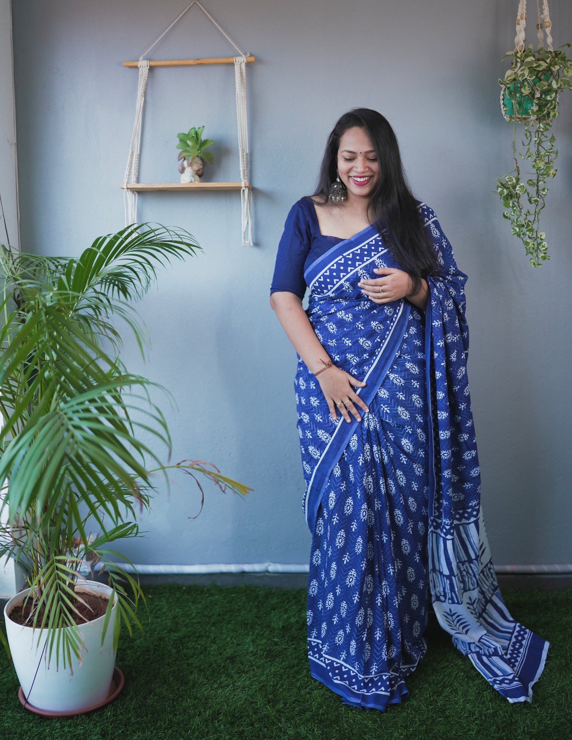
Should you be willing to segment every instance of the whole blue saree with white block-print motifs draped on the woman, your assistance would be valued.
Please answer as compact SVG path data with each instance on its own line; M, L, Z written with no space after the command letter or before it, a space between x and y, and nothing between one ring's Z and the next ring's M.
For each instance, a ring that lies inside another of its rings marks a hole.
M298 432L312 532L312 676L343 702L385 709L425 654L429 596L440 625L509 702L530 701L548 642L512 619L494 575L466 363L466 276L420 205L440 263L425 314L377 305L357 283L400 266L369 226L306 269L308 316L334 363L365 380L363 421L334 421L299 359Z

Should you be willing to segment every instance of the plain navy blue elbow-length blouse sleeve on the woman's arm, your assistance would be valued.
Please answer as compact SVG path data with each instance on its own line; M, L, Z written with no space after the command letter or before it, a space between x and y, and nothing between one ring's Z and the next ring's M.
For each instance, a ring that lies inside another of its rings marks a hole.
M270 294L278 291L295 293L303 299L306 293L304 263L310 251L312 234L303 209L295 203L290 209L276 255Z

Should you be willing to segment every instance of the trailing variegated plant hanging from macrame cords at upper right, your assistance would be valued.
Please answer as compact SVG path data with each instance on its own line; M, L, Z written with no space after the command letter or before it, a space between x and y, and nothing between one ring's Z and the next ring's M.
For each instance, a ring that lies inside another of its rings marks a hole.
M542 44L520 44L503 59L512 56L511 69L499 79L505 118L513 126L514 169L497 180L497 192L505 206L504 218L511 232L525 246L531 265L539 267L549 260L546 233L541 231L540 214L546 204L548 180L556 175L558 151L551 127L558 115L558 96L571 88L572 60L564 44L546 50ZM525 126L522 150L517 149L517 123ZM522 172L520 161L530 162L532 172Z

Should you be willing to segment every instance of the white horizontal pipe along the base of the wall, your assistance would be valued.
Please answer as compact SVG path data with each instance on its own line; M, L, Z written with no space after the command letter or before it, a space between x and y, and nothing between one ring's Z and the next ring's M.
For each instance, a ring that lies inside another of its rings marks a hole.
M155 574L195 574L205 575L207 573L308 573L309 565L291 565L280 562L252 562L252 563L226 563L215 565L127 565L120 564L127 573L140 573L143 575ZM95 570L101 570L101 564L95 566ZM572 563L562 565L497 565L495 571L505 575L534 574L545 576L572 575Z

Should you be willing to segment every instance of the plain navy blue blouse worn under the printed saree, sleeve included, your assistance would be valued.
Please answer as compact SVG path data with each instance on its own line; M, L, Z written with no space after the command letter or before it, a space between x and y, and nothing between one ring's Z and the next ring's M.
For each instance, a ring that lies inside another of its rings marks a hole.
M300 198L286 218L284 233L278 244L274 277L270 295L278 291L295 293L300 298L306 293L304 272L318 257L334 244L343 241L337 236L323 236L311 198Z

